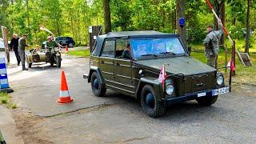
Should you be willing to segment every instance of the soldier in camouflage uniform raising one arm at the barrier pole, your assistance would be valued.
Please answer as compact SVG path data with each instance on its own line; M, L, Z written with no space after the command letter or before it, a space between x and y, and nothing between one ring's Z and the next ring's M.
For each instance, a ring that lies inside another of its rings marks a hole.
M214 30L213 26L207 26L206 38L203 40L203 44L206 46L205 54L207 58L207 65L217 69L218 67L218 51L219 51L219 39L222 37L222 22L218 20L219 30Z

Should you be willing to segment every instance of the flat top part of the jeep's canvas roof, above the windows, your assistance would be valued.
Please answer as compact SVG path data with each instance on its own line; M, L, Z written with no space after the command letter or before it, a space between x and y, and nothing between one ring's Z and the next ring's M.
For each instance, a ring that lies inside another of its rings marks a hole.
M119 31L106 34L106 38L158 38L158 37L178 37L178 34L167 34L154 30L143 31Z

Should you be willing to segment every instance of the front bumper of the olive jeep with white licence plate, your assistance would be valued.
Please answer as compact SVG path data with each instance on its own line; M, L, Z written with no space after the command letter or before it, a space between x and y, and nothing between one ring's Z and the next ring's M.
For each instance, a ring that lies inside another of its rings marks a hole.
M220 94L226 94L231 92L230 86L222 87L214 90L202 90L195 93L185 94L183 96L175 97L175 98L162 98L164 102L186 102L190 100L194 100L200 97L217 97Z

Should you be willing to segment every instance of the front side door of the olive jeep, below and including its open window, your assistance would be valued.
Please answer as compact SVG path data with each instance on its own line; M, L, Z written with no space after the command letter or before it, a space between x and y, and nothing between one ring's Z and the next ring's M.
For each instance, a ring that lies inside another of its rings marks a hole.
M131 59L123 58L123 53L128 45L127 39L116 40L116 57L114 59L114 81L116 87L126 94L134 94L132 79Z

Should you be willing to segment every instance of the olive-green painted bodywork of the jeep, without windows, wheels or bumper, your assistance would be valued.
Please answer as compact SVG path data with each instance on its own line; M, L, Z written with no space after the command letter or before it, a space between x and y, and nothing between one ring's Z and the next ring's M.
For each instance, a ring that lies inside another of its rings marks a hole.
M190 58L187 51L185 55L169 58L143 60L108 58L102 57L101 50L98 50L102 49L107 37L100 38L99 41L97 40L96 50L90 56L90 74L96 71L107 89L140 98L142 87L151 85L161 100L217 88L217 70ZM129 39L129 37L124 38ZM166 85L171 82L175 87L175 93L171 96L167 96L164 91L165 86L158 81L164 63L166 63L166 74L168 75ZM90 74L88 82L90 82Z

